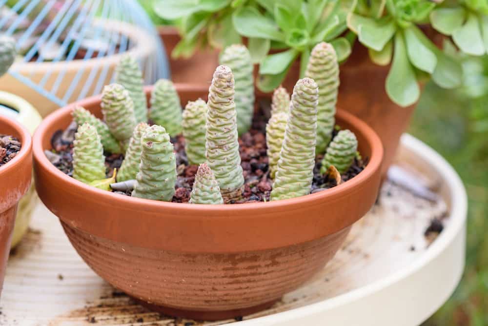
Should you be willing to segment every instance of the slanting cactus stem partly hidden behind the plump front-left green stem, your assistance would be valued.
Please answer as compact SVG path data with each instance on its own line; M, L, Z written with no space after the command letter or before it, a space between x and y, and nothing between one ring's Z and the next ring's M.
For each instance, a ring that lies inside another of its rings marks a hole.
M129 147L125 152L125 157L119 170L119 175L117 176L119 182L136 179L137 172L139 172L139 165L141 164L141 138L147 128L149 128L149 125L145 122L139 123L134 128Z

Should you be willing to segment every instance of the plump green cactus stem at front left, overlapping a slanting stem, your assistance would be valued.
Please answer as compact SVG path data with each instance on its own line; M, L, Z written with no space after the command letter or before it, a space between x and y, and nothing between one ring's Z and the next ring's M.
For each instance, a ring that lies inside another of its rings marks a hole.
M141 138L141 165L132 197L171 201L175 193L176 157L164 127L153 125Z

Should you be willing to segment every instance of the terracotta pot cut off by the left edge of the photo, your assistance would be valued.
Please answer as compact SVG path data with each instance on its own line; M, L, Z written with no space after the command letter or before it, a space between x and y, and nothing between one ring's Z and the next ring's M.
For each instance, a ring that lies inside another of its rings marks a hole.
M17 137L22 147L10 162L0 166L0 293L5 276L17 205L32 177L32 139L19 122L0 115L0 134Z

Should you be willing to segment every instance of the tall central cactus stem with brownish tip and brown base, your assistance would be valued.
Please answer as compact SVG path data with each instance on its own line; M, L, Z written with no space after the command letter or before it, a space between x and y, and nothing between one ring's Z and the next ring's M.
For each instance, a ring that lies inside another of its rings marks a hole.
M215 174L225 202L242 197L244 185L237 141L234 76L226 66L218 66L208 93L205 149L207 164Z

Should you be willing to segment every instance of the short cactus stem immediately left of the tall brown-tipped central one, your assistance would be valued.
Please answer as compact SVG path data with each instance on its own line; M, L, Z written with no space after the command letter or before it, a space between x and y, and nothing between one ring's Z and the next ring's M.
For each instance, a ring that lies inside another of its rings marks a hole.
M207 103L202 99L188 102L183 110L183 137L188 163L204 163Z

